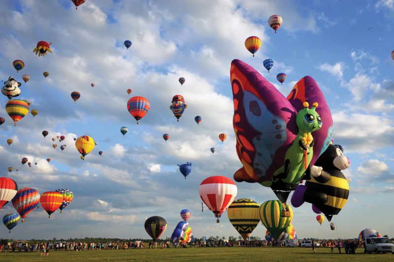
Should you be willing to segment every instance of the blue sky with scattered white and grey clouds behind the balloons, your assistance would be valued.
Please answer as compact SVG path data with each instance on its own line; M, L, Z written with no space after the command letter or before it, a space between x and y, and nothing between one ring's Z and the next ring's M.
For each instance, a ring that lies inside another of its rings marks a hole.
M267 24L273 14L283 17L277 33ZM327 221L320 226L305 203L293 209L298 238L356 238L366 228L393 237L393 22L393 0L87 0L78 10L70 0L2 1L0 79L22 82L18 98L30 99L30 109L39 113L14 127L5 112L8 98L0 97L0 175L40 193L70 189L74 199L51 219L35 209L11 234L1 227L1 237L148 238L144 222L158 215L167 222L165 238L185 208L193 214L189 224L196 237L237 237L226 212L219 224L206 206L201 212L198 194L205 178L232 179L241 167L232 127L233 59L256 68L285 96L303 76L312 76L328 102L334 141L351 159L343 171L352 179L349 199L332 220L337 231ZM244 46L251 35L262 40L255 57ZM52 54L33 53L40 40L52 42ZM269 73L267 58L274 61ZM25 63L18 73L16 59ZM287 74L283 85L276 80L279 72ZM23 74L31 80L24 83ZM183 86L179 77L186 79ZM76 103L73 91L81 94ZM178 94L188 104L179 122L168 109ZM127 110L132 96L151 105L139 125ZM123 126L129 128L125 136ZM45 138L43 130L49 132ZM170 135L166 142L164 133ZM57 135L66 139L54 149L51 138ZM73 140L81 135L98 142L85 161ZM64 151L60 144L67 145ZM37 165L22 165L23 157ZM185 180L177 164L186 162L193 164ZM276 199L259 184L236 185L236 199ZM8 203L0 216L10 212L15 210ZM263 238L265 230L260 224L252 236Z

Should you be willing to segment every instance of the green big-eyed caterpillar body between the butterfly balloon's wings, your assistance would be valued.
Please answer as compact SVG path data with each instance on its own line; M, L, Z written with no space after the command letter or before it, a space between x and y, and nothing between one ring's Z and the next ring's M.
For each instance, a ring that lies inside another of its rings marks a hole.
M285 183L295 184L302 179L310 179L309 163L313 157L314 145L311 132L318 131L323 122L316 112L318 103L313 103L312 108L309 108L308 102L304 102L303 106L304 108L298 111L296 116L298 127L296 139L286 152L284 166L273 174L274 182L281 179Z

